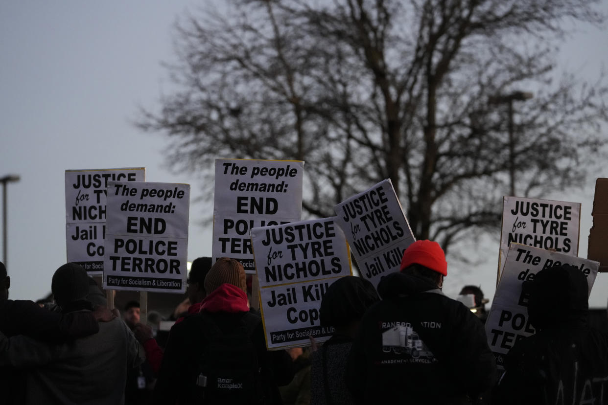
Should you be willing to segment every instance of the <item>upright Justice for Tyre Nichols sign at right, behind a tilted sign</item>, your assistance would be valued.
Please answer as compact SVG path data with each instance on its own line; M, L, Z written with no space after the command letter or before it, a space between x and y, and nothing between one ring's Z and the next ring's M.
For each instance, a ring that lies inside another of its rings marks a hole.
M511 242L578 256L581 203L504 197L499 279Z

